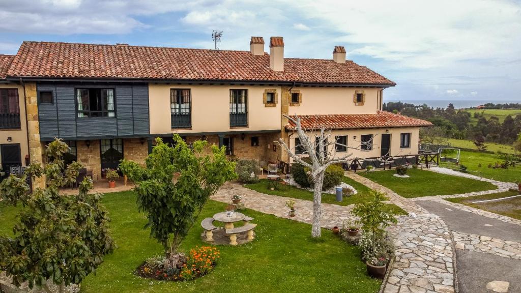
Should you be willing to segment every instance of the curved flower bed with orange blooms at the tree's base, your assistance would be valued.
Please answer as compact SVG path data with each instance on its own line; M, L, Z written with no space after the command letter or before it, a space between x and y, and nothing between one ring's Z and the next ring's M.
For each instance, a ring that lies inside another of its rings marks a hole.
M165 270L166 258L162 255L147 259L136 274L156 280L185 281L202 277L214 270L220 252L216 247L203 246L190 250L187 260L180 268Z

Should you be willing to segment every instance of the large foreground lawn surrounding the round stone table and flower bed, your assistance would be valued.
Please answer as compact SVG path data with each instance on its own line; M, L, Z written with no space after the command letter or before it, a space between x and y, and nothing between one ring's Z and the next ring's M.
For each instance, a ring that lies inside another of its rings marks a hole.
M215 271L190 282L157 282L132 272L146 258L162 253L162 247L144 230L145 215L138 213L131 192L107 193L111 233L118 248L108 255L81 288L83 293L102 292L377 292L381 281L366 274L357 247L346 244L322 230L312 239L311 226L252 210L257 239L246 245L218 246L221 259ZM208 201L204 217L224 211L225 203ZM0 205L0 233L10 233L15 209ZM206 245L200 240L203 229L195 225L182 244L189 250Z

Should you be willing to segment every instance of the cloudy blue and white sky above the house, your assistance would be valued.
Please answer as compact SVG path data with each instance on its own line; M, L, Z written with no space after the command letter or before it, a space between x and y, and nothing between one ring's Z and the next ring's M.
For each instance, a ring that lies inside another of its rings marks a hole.
M0 19L0 54L24 40L213 48L221 30L221 50L283 36L285 57L331 59L342 45L398 84L388 101L521 101L521 0L0 0Z

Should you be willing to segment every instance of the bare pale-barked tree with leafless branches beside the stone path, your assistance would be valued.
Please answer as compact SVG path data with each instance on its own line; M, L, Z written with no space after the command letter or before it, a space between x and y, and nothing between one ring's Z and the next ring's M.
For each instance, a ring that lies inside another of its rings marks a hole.
M282 138L279 139L281 148L286 151L294 161L311 169L311 177L315 182L313 191L313 225L311 229L311 236L320 237L320 218L322 216L322 184L324 182L324 173L326 172L327 167L333 164L346 163L351 160L387 163L392 160L392 157L389 156L389 153L373 159L359 157L352 158L352 153L348 153L340 157L335 157L337 146L343 146L346 149L356 149L361 151L373 150L375 145L375 136L373 136L373 138L369 141L360 141L360 146L354 148L346 144L341 144L336 140L332 142L330 139L332 129L326 127L325 125L319 124L317 119L315 119L315 123L312 127L304 129L302 128L301 119L299 116L295 115L295 118L293 118L284 115L284 117L288 118L295 125L294 128L299 135L300 144L295 145L295 148L303 148L304 151L302 154L307 154L311 160L311 163L305 162L302 160L301 155L295 155L294 152L292 152L288 144L286 144ZM377 135L379 135L379 133Z

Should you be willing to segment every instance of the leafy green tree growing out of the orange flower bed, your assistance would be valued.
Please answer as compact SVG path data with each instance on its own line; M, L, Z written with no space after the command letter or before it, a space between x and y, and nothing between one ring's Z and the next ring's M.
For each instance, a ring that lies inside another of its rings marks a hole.
M237 178L224 146L212 145L212 155L205 155L207 141L195 141L192 148L179 135L173 141L170 147L157 138L145 167L127 160L120 164L135 184L139 210L147 213L145 228L150 227L150 236L165 247L170 260L165 268L177 264L177 250L210 195Z

